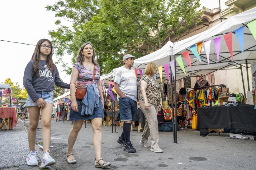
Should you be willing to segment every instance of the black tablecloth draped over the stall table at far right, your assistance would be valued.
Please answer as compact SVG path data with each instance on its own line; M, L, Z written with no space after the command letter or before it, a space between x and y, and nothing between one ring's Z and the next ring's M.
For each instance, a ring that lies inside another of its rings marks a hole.
M237 106L197 108L197 129L225 128L256 132L254 105L239 103Z

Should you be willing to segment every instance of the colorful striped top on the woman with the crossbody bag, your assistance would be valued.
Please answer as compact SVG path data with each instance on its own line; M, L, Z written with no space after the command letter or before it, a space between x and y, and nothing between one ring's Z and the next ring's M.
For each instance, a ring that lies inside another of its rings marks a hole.
M82 64L75 63L73 65L78 70L78 78L77 82L79 83L79 87L87 87L90 84L92 84L92 78L93 78L93 71L86 69ZM98 90L97 82L100 80L100 67L96 65L96 74L95 74L95 87Z

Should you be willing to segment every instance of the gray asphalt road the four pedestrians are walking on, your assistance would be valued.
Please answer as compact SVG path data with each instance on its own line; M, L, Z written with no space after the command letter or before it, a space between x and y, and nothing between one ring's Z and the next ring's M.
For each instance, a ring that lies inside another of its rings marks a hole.
M24 122L28 127L29 121ZM9 143L8 148L4 149L9 149L4 160L0 159L0 168L31 168L25 165L28 144L26 131L24 127L22 128L23 130L19 131L18 129L10 130L10 133L0 131L0 139L4 142L4 146ZM56 164L48 169L95 169L90 123L87 123L87 128L82 127L74 145L73 153L77 163L66 162L67 140L71 128L71 122L63 123L52 120L50 146L53 147L50 148L50 155L55 159ZM111 127L102 126L102 158L112 163L106 169L256 169L256 141L225 138L228 134L219 136L217 133L201 137L199 131L187 129L178 132L178 144L174 144L173 132L159 132L159 146L164 153L154 153L150 151L150 148L139 144L142 132L137 132L134 128L130 139L137 152L127 153L116 142L122 129L116 127L116 132L111 133ZM4 137L11 133L12 137ZM41 133L42 129L39 124L37 143L42 141ZM19 145L22 147L17 147ZM2 153L2 147L0 150ZM40 159L42 151L38 146L36 151ZM37 167L32 168L37 169Z

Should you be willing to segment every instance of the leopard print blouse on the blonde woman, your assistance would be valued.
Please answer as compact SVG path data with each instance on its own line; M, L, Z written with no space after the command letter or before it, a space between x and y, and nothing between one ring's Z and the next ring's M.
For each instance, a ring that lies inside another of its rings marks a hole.
M141 80L144 80L148 84L148 86L146 88L146 96L147 96L148 102L155 106L159 105L159 103L160 103L159 88L160 87L159 87L158 83L156 82L156 80L150 78L146 74L144 74L142 76L142 78L140 79L140 82L141 82ZM140 99L139 100L144 101L141 91L140 91Z

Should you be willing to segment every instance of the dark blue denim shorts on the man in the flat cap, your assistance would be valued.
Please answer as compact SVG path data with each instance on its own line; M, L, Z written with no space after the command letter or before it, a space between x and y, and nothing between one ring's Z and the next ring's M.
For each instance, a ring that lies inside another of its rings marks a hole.
M134 121L137 102L129 97L119 98L119 113L121 121Z

